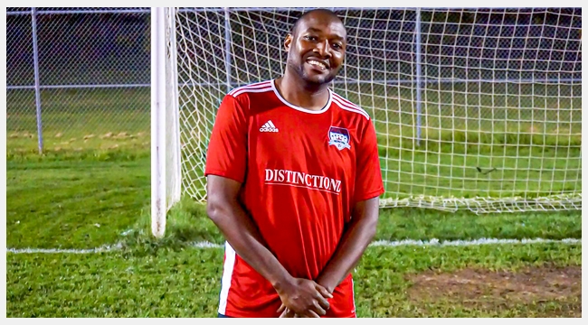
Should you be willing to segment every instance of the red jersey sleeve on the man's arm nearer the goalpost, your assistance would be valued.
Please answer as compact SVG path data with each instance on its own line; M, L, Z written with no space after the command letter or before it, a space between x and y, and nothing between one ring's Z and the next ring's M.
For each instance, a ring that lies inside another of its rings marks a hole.
M247 114L236 98L227 95L214 120L204 176L217 175L243 182L247 166Z

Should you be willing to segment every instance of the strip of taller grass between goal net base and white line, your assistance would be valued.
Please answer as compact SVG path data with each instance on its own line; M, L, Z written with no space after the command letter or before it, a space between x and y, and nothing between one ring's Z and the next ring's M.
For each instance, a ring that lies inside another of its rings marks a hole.
M128 240L153 242L147 236L150 220L141 218ZM222 244L223 237L206 216L205 207L189 198L181 200L168 213L168 234L163 239L170 245L197 241ZM529 212L476 216L471 212L444 212L430 209L381 209L375 240L468 240L476 238L564 239L582 237L580 211L557 213ZM132 246L132 244L131 244Z

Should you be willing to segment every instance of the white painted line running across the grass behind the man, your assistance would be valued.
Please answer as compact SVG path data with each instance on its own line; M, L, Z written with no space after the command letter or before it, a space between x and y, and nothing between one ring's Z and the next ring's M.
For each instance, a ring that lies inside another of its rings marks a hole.
M479 238L473 240L447 240L440 241L437 238L431 240L413 240L405 239L399 241L378 240L370 244L370 246L480 246L480 245L504 245L504 244L542 244L542 243L560 243L560 244L582 244L582 239L565 238L565 239L498 239L498 238ZM196 242L193 244L194 248L222 248L223 245L213 244L207 241ZM60 248L6 248L6 253L13 254L95 254L114 252L120 250L122 245L116 244L113 246L100 246L89 249L60 249Z

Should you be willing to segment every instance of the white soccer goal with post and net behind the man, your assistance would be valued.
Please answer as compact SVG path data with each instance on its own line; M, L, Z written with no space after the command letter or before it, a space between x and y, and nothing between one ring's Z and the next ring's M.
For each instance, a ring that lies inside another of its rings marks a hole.
M331 88L372 116L383 207L582 208L580 8L332 9L348 46ZM306 10L153 9L156 228L181 195L205 202L215 110L280 77Z

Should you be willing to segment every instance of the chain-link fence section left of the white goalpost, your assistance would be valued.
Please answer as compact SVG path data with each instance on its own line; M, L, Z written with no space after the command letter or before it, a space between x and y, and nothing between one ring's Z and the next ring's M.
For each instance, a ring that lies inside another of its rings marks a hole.
M149 8L7 8L8 149L34 150L38 137L45 150L148 148L149 17Z

